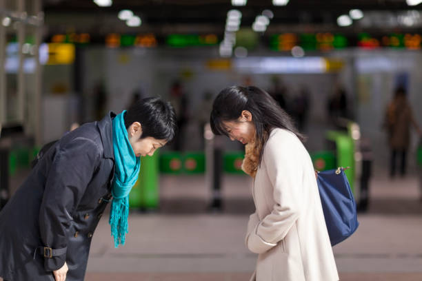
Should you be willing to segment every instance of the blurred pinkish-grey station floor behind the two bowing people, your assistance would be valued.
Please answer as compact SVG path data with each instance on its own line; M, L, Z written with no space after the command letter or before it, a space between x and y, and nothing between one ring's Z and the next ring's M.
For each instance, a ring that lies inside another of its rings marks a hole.
M421 281L422 202L416 175L371 183L368 214L354 235L334 247L341 280ZM248 280L256 256L243 235L254 211L250 180L223 179L223 210L210 212L201 176L161 177L155 212L130 214L126 244L114 249L107 216L94 233L86 280Z

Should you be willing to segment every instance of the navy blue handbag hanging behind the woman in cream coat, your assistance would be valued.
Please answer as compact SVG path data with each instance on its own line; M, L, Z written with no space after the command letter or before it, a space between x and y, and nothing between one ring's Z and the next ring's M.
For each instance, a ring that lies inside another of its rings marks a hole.
M331 245L339 244L356 231L356 202L343 168L321 171L316 178Z

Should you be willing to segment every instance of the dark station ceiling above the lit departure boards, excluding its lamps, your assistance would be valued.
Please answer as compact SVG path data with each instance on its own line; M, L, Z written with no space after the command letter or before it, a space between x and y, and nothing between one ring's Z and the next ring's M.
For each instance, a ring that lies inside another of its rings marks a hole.
M117 14L130 9L142 21L129 27ZM48 33L153 32L213 33L221 35L229 10L241 11L241 28L248 28L263 10L274 17L266 30L281 32L421 32L422 4L408 6L406 0L290 0L286 6L274 6L271 0L248 0L245 6L232 6L230 0L114 0L110 7L99 7L92 0L44 0ZM341 27L337 19L352 9L363 11L363 19Z

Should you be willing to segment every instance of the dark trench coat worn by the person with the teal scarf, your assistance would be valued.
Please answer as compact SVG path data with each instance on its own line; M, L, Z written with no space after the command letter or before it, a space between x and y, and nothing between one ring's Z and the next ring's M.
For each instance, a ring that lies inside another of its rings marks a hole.
M1 277L54 280L66 260L66 280L83 280L92 233L111 199L114 116L64 135L1 210Z

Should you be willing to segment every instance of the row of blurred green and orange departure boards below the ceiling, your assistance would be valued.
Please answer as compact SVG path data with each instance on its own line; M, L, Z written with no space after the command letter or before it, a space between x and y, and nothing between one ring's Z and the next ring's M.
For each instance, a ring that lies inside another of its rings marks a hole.
M52 34L46 39L49 43L74 43L75 45L105 44L108 48L141 47L153 48L168 46L171 48L190 48L214 46L221 43L217 34L170 34L157 37L155 34L118 34L103 36L88 33ZM8 42L16 41L8 39ZM33 40L32 40L33 41ZM239 42L238 42L239 43ZM305 51L330 51L343 48L393 48L404 50L420 50L422 35L414 33L393 34L341 34L331 32L264 34L260 39L261 46L278 52L290 52L295 46Z

